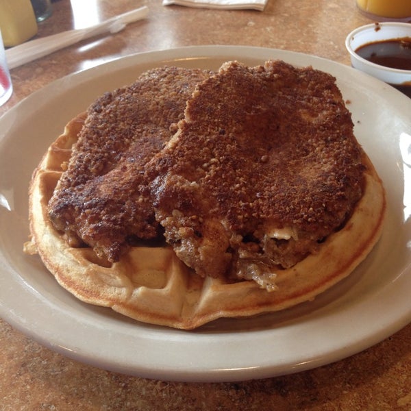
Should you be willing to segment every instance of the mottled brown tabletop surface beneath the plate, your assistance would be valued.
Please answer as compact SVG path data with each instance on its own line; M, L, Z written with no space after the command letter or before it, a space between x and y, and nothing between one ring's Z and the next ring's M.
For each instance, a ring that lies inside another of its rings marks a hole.
M188 45L300 51L349 64L345 36L370 23L354 0L269 0L264 12L163 6L161 0L53 2L37 36L149 6L92 47L82 43L12 70L14 94L0 114L53 80L130 53ZM86 5L92 9L86 10ZM94 11L93 11L94 10ZM74 18L76 17L76 18ZM81 18L83 23L81 23ZM90 42L91 43L91 42ZM381 343L310 371L235 383L164 382L65 358L0 321L0 410L411 410L411 325ZM201 353L199 354L201 355Z

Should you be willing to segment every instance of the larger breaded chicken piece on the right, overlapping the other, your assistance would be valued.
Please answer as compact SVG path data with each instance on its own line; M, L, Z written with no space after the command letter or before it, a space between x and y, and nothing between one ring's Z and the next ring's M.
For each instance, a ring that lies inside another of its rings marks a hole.
M362 196L362 149L335 79L223 64L147 164L155 216L201 275L254 279L315 253Z

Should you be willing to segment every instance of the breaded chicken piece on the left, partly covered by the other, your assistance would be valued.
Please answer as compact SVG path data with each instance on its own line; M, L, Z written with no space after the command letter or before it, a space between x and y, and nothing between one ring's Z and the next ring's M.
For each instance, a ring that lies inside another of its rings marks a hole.
M73 246L115 262L129 242L158 236L144 166L173 136L186 101L210 73L164 67L88 108L49 217Z

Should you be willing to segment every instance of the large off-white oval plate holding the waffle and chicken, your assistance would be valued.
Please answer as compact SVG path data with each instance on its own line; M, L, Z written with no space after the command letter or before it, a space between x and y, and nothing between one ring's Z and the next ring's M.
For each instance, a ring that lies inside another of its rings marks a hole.
M217 69L225 60L279 58L336 76L356 135L388 194L388 219L371 255L312 303L192 332L137 323L86 305L25 256L27 186L67 121L105 90L153 66ZM350 67L288 51L188 47L122 58L53 82L0 119L0 314L40 343L82 362L156 379L234 381L312 369L351 356L411 321L411 100ZM407 190L405 190L405 187Z

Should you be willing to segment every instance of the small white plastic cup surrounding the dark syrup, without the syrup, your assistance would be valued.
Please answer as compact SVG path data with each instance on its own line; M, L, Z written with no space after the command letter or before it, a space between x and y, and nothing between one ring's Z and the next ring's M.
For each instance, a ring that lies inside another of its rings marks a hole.
M411 38L410 23L372 23L358 27L345 39L345 47L351 55L351 65L383 82L393 85L411 85L411 70L392 69L369 62L356 53L356 49L371 42Z

